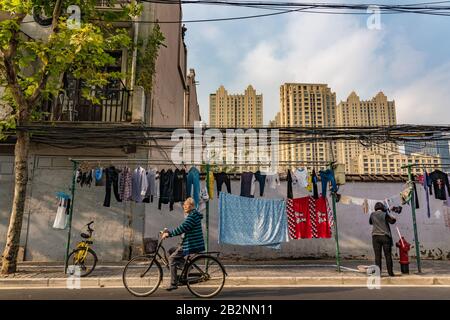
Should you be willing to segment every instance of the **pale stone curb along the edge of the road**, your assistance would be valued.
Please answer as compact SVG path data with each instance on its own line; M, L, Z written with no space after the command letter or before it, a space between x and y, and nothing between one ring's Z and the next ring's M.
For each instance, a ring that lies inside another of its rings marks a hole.
M76 280L75 280L76 281ZM83 288L117 288L123 287L121 277L114 278L81 278ZM33 289L33 288L68 288L74 283L70 278L35 278L35 279L0 279L1 289ZM355 286L367 287L371 283L367 277L227 277L225 287L322 287L322 286ZM374 283L372 283L373 285ZM450 276L420 277L406 276L381 278L381 286L450 286ZM162 285L166 285L163 281Z

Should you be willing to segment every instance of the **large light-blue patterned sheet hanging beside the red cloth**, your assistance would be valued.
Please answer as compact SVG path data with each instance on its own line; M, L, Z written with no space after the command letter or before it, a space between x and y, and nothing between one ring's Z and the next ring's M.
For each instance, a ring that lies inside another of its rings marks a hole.
M286 203L221 192L219 243L280 249L288 241Z

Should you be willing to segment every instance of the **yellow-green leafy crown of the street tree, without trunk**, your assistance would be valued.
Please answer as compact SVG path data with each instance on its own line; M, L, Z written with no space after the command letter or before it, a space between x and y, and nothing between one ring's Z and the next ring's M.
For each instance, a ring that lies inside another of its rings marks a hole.
M0 76L15 74L14 83L5 83L9 89L16 88L2 97L0 103L12 107L14 110L26 110L24 113L33 121L40 119L39 105L43 98L56 96L62 87L62 76L71 73L74 77L84 80L88 86L84 95L87 99L96 101L94 89L104 86L110 79L121 78L119 72L108 72L107 67L115 64L111 52L131 47L132 41L129 31L116 28L113 25L102 25L98 18L111 10L98 10L97 0L65 0L62 4L61 15L58 18L58 28L47 39L30 39L20 29L19 20L24 14L31 14L33 8L48 17L53 14L56 0L0 0L0 10L10 14L9 19L0 21ZM111 0L114 6L117 1ZM81 9L81 27L69 28L67 12L69 5L78 5ZM142 5L125 5L121 10L114 11L115 19L130 19L140 14ZM10 48L16 50L9 51ZM5 64L5 53L12 52L9 63ZM13 70L7 70L12 68ZM19 88L19 92L17 91ZM14 128L19 112L13 112L6 119L1 120L0 133Z

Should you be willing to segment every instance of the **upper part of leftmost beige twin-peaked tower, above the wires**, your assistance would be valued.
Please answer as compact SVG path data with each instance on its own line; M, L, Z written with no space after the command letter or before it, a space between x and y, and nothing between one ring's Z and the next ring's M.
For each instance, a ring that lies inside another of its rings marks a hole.
M229 94L224 86L209 95L209 125L211 127L261 127L263 96L249 85L244 94Z

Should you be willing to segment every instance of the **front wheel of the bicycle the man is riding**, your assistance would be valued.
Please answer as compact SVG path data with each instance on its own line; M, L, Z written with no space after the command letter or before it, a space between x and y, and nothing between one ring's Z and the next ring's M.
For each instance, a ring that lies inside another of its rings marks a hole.
M125 266L122 280L132 295L149 296L158 289L162 281L161 265L153 256L134 257Z

